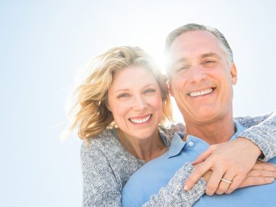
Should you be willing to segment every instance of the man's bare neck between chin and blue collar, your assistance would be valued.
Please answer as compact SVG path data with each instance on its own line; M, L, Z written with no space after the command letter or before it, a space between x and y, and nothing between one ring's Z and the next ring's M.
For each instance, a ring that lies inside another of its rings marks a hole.
M232 117L210 121L205 124L186 122L184 140L186 140L188 135L193 135L206 141L210 145L219 144L233 137L235 131L236 128Z

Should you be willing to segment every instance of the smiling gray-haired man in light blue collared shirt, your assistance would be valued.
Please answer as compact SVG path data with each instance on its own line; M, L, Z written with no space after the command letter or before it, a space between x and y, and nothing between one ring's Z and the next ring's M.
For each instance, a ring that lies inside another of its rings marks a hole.
M179 180L173 179L177 173L193 170L192 166L185 165L187 161L195 160L212 144L236 139L246 129L233 121L233 85L237 82L237 70L223 34L214 28L188 24L170 34L166 49L170 59L170 92L184 117L186 132L176 134L168 152L130 178L123 190L123 206L141 206L154 194L152 200L158 199L161 187L179 184ZM276 164L276 159L270 162ZM220 185L228 187L233 179L235 175L226 172ZM169 197L170 204L191 206L200 197L195 206L276 206L276 183L239 188L229 195L201 197L205 190L203 183L204 180L199 179L191 191L197 194L196 199L187 193L183 201L175 198L174 202L174 197ZM183 186L177 188L180 196L181 188ZM161 193L177 195L178 192L161 188Z

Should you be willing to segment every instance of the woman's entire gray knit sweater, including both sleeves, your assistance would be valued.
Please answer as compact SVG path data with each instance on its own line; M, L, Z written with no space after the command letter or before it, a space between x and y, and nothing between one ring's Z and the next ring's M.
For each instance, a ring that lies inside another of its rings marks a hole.
M240 137L253 141L262 150L262 160L276 155L276 111L265 116L235 118L242 126L251 127ZM183 124L169 129L159 128L164 143L169 147L175 132L184 131ZM119 143L114 129L107 129L81 146L83 171L83 206L121 206L121 190L130 176L146 161L137 159ZM183 185L193 171L185 164L170 179L158 195L152 195L144 206L192 206L205 192L206 182L201 178L195 186L184 191Z

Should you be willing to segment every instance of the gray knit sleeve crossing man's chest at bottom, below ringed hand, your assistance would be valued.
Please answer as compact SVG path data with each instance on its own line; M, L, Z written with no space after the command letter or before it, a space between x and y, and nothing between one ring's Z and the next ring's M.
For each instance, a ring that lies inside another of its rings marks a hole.
M143 207L153 206L193 206L205 193L206 181L201 177L192 189L184 190L184 182L193 172L190 163L184 164L170 179L166 187L160 188L159 193L152 195Z

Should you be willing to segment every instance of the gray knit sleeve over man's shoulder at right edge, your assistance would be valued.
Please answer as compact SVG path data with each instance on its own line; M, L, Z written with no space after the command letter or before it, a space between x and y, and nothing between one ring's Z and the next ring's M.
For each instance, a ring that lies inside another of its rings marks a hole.
M256 117L237 117L242 126L248 127L239 137L244 137L253 141L263 155L259 157L261 161L267 161L276 155L276 111L267 115Z

